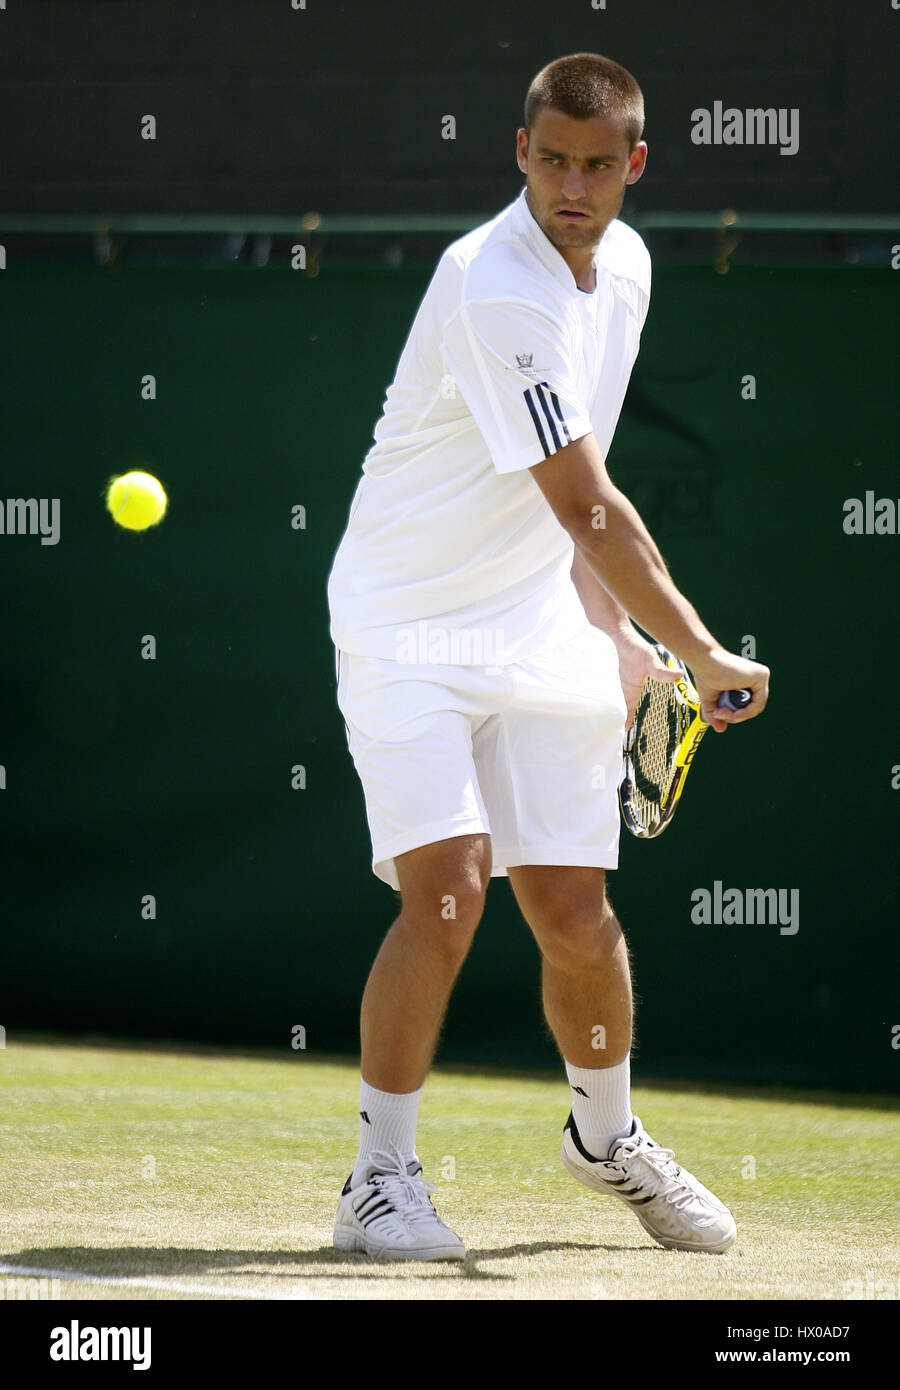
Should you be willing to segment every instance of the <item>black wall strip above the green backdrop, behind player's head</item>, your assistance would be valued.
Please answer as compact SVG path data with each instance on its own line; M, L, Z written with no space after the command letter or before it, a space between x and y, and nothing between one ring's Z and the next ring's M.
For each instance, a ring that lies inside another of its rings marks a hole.
M629 211L893 213L890 0L10 0L0 199L13 211L484 211L520 186L534 74L605 53L637 76L651 149ZM797 107L800 153L694 146L715 100ZM136 138L157 117L154 143ZM456 140L440 139L456 117Z

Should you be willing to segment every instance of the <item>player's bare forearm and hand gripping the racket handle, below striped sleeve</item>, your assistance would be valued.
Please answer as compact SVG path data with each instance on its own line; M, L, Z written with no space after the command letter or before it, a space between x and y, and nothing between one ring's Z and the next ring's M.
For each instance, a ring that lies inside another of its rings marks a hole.
M768 699L768 669L725 651L702 624L675 587L637 510L609 478L594 435L583 435L530 471L574 541L576 556L619 609L691 669L702 719L721 733L730 723L761 714ZM737 687L753 691L751 703L740 712L718 709L719 694Z

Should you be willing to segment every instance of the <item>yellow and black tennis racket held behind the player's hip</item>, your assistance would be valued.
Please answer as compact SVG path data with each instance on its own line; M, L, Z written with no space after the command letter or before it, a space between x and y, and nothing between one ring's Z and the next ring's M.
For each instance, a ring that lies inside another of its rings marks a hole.
M700 695L677 656L654 642L654 651L677 681L644 681L641 698L625 741L625 777L619 805L625 824L638 840L661 835L684 790L687 770L709 728L700 717ZM719 705L744 709L750 691L723 691Z

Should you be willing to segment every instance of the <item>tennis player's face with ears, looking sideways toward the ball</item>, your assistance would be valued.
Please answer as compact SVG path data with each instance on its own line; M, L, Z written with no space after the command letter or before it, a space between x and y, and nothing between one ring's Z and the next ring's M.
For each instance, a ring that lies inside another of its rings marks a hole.
M602 115L577 121L543 106L517 133L531 215L554 246L595 246L619 215L625 189L644 172L647 145L629 149L625 125Z

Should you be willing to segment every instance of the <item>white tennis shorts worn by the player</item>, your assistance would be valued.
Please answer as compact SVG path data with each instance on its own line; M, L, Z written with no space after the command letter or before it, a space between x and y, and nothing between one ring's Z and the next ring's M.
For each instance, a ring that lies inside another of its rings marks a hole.
M508 666L341 651L335 664L378 878L398 888L396 855L476 834L491 837L494 876L616 867L626 706L600 628Z

